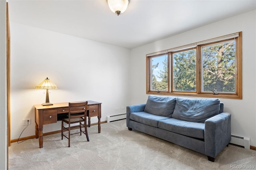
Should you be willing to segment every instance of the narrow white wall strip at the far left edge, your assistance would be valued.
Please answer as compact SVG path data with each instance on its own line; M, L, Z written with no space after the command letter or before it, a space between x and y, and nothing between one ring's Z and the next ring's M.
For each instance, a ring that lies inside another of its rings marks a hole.
M6 1L0 0L0 169L7 169Z

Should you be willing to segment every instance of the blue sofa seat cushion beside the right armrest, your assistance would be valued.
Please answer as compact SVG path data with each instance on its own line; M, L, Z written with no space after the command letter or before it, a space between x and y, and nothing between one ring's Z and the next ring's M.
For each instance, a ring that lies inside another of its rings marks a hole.
M178 133L180 135L204 139L204 123L196 123L170 118L160 120L158 127L160 129Z

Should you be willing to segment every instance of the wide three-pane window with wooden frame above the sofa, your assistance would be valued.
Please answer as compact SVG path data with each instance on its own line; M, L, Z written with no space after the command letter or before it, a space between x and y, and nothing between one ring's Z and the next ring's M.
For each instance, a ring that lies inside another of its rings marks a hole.
M242 99L242 32L146 57L147 94Z

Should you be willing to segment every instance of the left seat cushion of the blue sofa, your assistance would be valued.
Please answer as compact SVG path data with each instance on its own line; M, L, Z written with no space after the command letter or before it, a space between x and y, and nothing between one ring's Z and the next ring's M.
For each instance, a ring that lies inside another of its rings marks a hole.
M130 119L145 125L158 127L158 121L164 120L164 119L170 119L170 117L158 116L158 115L141 111L141 112L131 113Z

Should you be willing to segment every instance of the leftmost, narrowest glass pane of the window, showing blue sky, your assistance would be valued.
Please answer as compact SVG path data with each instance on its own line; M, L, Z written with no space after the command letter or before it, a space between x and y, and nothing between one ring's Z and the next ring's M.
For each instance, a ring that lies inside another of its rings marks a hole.
M168 90L168 55L160 55L150 58L151 89L156 91Z

